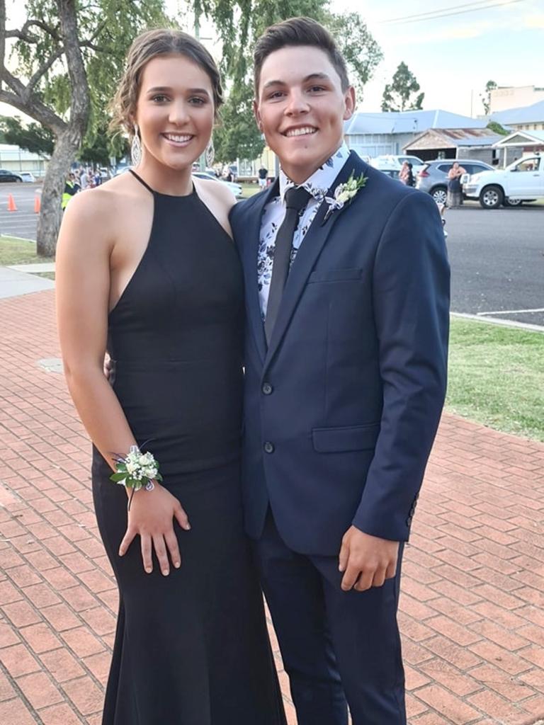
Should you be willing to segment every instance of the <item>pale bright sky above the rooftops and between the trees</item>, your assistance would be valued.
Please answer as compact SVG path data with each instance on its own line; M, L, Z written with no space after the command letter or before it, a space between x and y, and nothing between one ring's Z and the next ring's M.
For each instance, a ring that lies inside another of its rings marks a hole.
M184 0L167 5L176 13ZM21 6L8 2L14 21L24 21ZM488 80L544 87L544 0L331 0L331 9L358 12L382 47L384 60L365 88L361 111L380 110L384 86L400 62L424 91L424 109L482 115L479 96ZM215 54L212 36L203 23L202 38L210 38L204 42ZM0 104L0 113L14 112Z

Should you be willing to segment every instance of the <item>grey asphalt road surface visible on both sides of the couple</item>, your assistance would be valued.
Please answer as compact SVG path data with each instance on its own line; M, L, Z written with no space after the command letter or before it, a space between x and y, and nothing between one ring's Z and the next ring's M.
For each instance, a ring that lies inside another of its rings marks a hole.
M36 239L41 186L0 184L0 233ZM12 194L17 212L7 211ZM446 212L453 312L544 326L544 206Z

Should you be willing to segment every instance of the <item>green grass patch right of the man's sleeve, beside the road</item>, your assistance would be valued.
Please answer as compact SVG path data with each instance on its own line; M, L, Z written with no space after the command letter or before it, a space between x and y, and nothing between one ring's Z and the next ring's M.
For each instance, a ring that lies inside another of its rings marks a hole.
M452 318L446 410L544 441L544 333Z

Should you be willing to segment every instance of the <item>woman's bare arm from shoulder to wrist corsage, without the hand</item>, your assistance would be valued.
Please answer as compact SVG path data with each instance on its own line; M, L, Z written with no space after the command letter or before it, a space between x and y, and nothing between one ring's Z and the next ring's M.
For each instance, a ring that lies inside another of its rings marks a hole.
M86 191L65 211L57 244L57 326L75 407L95 446L115 468L112 455L125 455L136 441L102 370L113 248L104 196L98 189Z

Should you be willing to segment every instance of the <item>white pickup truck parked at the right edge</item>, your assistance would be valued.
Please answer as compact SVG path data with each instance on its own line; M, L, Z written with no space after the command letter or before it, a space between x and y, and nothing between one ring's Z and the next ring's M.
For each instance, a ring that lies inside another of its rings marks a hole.
M544 199L544 157L525 157L505 169L471 176L463 184L463 193L469 199L478 199L484 209L496 209L501 204L517 207Z

